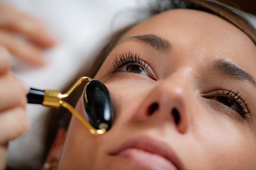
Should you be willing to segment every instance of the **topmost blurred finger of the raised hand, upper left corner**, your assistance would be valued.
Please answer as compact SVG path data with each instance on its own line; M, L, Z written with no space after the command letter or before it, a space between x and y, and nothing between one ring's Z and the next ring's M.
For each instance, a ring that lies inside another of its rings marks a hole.
M55 45L54 38L38 20L8 4L0 3L0 5L4 6L0 11L0 27L18 32L42 47Z

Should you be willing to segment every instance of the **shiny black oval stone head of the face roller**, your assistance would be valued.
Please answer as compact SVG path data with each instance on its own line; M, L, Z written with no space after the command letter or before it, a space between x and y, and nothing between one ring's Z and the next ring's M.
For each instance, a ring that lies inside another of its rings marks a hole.
M107 131L114 121L114 107L106 86L98 80L91 80L84 88L84 115L95 129L105 127Z

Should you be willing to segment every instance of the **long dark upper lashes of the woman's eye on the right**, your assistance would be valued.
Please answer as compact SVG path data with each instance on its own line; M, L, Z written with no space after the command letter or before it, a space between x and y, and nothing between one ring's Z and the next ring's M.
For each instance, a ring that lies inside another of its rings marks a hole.
M250 111L248 110L247 104L246 104L246 100L243 98L242 94L239 91L234 91L234 90L223 90L222 92L217 91L216 92L216 96L226 96L226 97L230 97L232 99L232 101L234 101L234 103L237 104L239 110L241 111L241 113L239 113L241 115L241 117L245 118L246 120L249 120L249 113Z

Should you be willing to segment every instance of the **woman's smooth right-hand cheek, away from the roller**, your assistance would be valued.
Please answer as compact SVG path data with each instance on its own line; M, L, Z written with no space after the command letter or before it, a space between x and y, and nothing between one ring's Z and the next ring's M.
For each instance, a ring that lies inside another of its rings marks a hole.
M205 113L205 112L204 112ZM209 113L205 120L198 118L194 136L200 143L208 164L216 169L255 168L255 138L246 125L217 113ZM207 114L204 114L207 115Z

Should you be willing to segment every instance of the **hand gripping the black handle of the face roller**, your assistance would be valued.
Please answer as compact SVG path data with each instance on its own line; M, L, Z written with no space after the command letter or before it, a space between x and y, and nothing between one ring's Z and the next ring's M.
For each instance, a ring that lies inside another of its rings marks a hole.
M29 128L26 94L29 87L10 71L10 53L0 46L0 169L4 169L8 142Z

